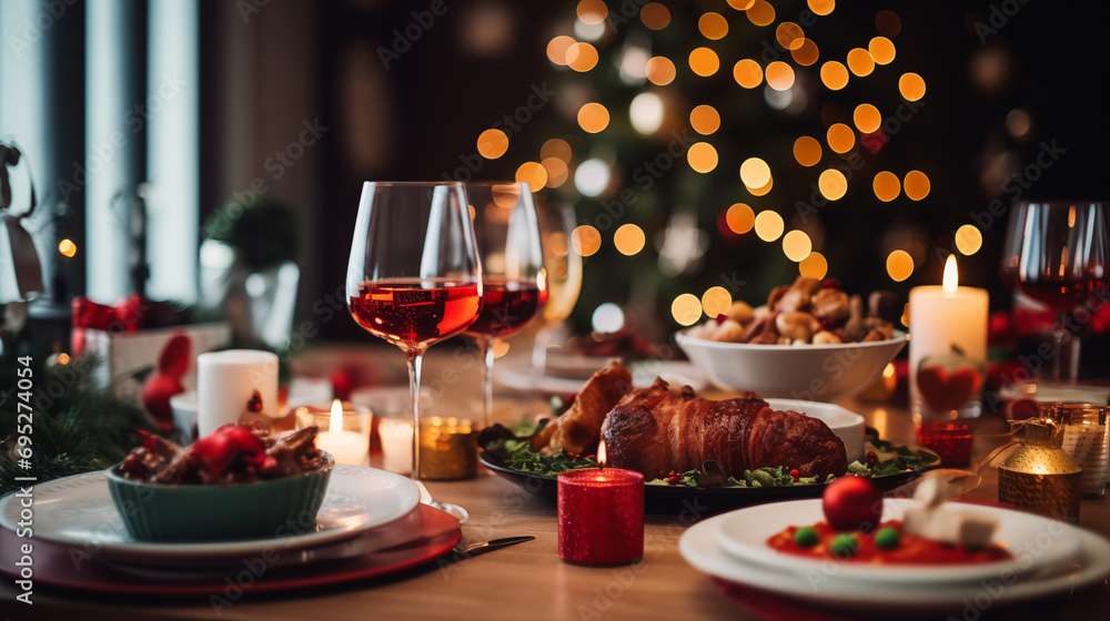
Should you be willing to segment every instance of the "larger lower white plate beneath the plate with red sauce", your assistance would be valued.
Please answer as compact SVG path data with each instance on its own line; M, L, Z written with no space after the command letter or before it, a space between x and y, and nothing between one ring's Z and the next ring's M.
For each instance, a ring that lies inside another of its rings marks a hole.
M725 552L717 542L717 529L728 516L698 522L683 533L678 550L687 562L724 580L837 608L885 612L912 610L918 614L939 611L959 617L966 601L1012 603L1078 589L1106 580L1110 573L1110 541L1064 526L1079 538L1080 547L1076 556L1058 564L1037 559L1033 561L1036 572L1020 578L1007 574L995 576L985 582L919 584L910 581L877 586L875 582L845 579L835 571L837 566L801 578L793 571L749 563Z

